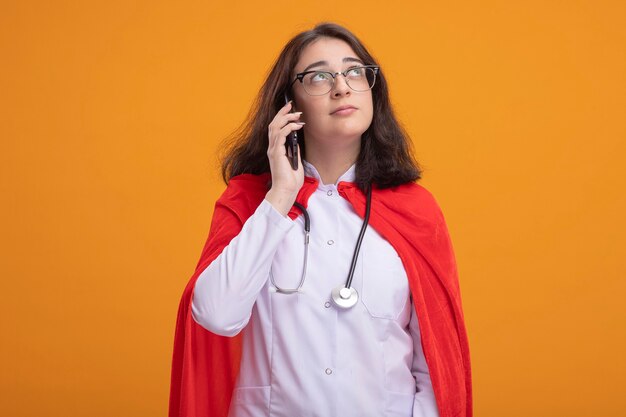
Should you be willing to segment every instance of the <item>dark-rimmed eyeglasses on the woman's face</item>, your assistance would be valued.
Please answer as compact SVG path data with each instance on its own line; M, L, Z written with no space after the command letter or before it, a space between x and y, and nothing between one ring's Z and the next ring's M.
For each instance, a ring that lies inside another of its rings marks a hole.
M289 84L289 88L296 81L300 81L308 95L323 96L333 89L335 78L341 74L344 76L348 87L354 91L367 91L374 87L376 74L378 74L379 69L380 67L376 65L363 65L335 73L328 71L305 71L296 74L296 78Z

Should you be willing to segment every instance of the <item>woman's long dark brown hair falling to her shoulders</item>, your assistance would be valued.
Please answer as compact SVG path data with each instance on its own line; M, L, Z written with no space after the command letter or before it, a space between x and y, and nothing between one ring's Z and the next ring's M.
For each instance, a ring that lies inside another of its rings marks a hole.
M222 178L226 183L239 174L270 172L267 158L268 126L284 106L284 93L291 72L307 45L320 38L336 38L346 42L357 56L369 65L378 65L365 46L346 28L334 23L321 23L301 32L285 45L250 109L247 120L225 142L222 156ZM412 155L411 142L396 120L387 90L384 71L380 70L372 88L374 112L372 123L361 136L361 150L356 161L355 182L361 190L370 183L389 188L421 178L421 170ZM306 156L304 132L298 133L302 158Z

